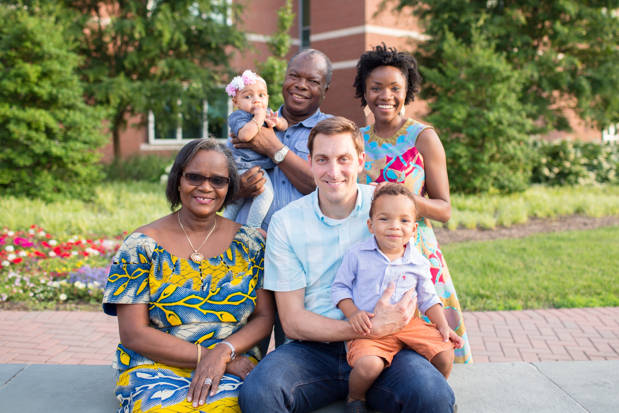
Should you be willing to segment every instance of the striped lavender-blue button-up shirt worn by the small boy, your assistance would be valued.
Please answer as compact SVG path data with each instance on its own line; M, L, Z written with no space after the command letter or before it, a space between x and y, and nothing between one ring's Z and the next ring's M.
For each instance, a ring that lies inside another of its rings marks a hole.
M389 261L378 248L374 236L353 245L345 254L331 287L331 300L337 306L344 298L352 298L359 310L373 313L390 282L396 284L396 291L389 299L391 304L402 300L408 290L415 289L412 297L417 297L417 308L423 316L431 306L443 306L432 282L430 261L417 248L411 248L410 241L404 256Z

